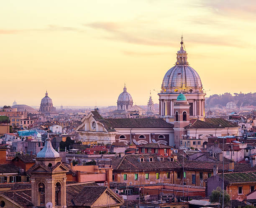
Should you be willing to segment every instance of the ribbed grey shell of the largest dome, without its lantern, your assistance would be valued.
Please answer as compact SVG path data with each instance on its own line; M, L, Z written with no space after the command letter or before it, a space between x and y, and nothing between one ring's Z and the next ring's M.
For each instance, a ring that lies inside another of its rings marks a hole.
M200 76L188 65L176 65L164 75L162 88L193 87L202 88Z

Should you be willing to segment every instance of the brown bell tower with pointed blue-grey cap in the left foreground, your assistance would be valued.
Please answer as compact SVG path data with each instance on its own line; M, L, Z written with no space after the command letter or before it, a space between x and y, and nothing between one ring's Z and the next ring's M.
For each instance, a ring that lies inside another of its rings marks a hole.
M54 150L48 137L44 148L36 155L36 164L31 173L31 202L35 207L46 206L66 208L66 173L59 153Z

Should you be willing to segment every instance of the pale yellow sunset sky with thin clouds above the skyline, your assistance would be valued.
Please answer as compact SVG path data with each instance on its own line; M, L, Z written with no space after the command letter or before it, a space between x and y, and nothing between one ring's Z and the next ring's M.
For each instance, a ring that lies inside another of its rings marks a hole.
M183 34L207 96L255 92L255 0L1 1L0 105L158 102Z

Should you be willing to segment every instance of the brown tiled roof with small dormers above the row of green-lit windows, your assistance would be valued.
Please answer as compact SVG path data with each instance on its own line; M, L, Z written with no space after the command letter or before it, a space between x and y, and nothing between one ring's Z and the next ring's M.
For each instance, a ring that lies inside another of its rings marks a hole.
M140 162L140 157L144 158L144 162ZM153 157L153 161L149 162L147 157ZM177 161L170 162L167 158L159 161L155 154L141 155L125 155L122 158L113 158L112 165L114 170L161 170L161 169L177 169L181 165Z

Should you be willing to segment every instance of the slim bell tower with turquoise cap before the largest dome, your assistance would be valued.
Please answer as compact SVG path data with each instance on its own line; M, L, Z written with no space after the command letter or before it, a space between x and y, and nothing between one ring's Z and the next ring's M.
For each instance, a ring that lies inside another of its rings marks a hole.
M174 144L176 148L180 146L182 135L187 134L184 128L189 125L189 104L184 94L179 94L174 102Z

